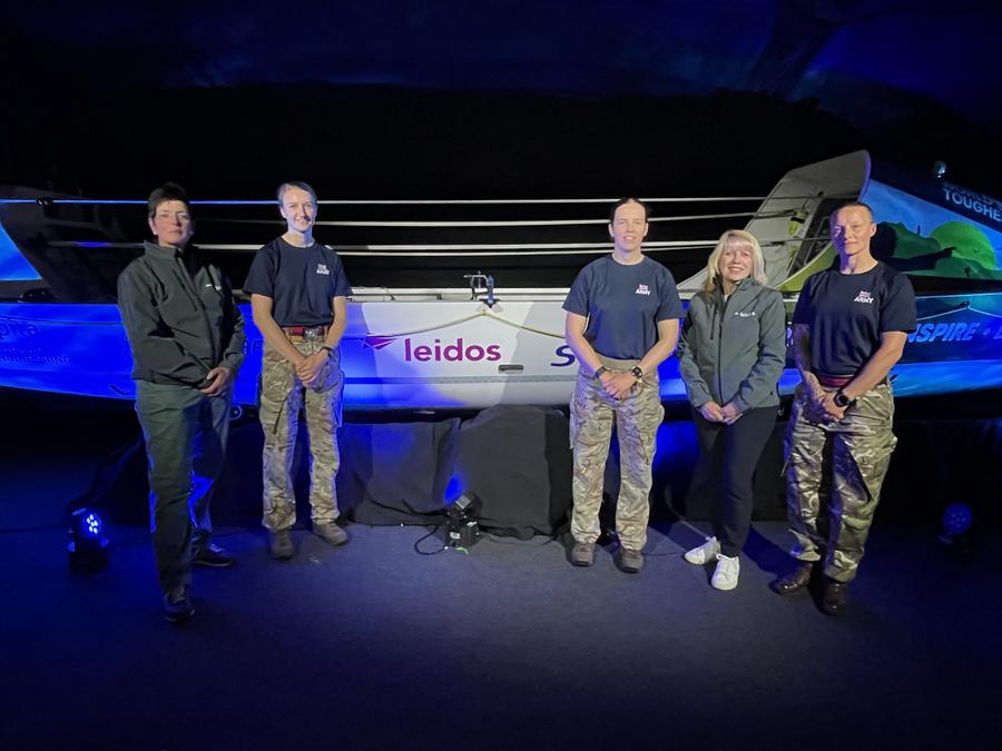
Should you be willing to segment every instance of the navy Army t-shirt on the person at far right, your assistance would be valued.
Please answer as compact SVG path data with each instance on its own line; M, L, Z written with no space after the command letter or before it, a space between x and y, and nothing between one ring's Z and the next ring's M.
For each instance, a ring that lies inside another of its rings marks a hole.
M853 376L884 332L915 329L915 290L904 274L878 263L865 274L831 268L808 277L794 324L811 327L811 365L827 376Z

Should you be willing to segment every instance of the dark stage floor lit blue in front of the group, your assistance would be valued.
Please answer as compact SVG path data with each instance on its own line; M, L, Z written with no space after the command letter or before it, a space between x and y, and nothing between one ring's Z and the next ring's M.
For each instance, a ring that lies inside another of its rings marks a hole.
M682 521L651 531L639 576L608 552L572 569L546 537L421 556L424 530L361 525L342 550L298 532L281 564L230 526L237 566L196 572L176 629L143 527L112 527L108 571L67 573L63 506L110 438L42 419L0 453L0 749L996 748L988 531L961 559L878 512L836 621L767 589L775 522L731 593L681 560L701 526Z

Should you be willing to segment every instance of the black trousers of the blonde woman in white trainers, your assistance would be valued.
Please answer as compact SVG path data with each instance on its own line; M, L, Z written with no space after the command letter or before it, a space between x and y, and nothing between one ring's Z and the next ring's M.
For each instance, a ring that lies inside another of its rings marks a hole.
M778 411L778 406L748 409L733 425L711 423L692 411L700 453L696 476L714 490L714 534L724 555L737 555L748 538L752 478Z

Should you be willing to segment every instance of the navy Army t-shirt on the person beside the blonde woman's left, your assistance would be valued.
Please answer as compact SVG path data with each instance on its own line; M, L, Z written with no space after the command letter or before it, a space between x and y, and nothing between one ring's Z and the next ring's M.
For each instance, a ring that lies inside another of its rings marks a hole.
M658 322L681 318L671 271L647 256L625 266L602 256L581 269L563 309L588 318L584 338L600 355L640 359L658 342Z

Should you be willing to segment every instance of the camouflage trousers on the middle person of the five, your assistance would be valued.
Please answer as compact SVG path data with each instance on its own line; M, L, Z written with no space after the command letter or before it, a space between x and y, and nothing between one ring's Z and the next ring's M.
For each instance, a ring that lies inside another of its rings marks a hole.
M629 370L637 360L601 357L610 370ZM623 399L613 399L601 382L580 370L570 408L570 439L574 453L572 490L574 507L571 534L593 543L599 533L599 510L612 426L619 439L620 487L616 531L623 547L642 550L650 516L651 463L658 426L665 416L657 374L644 381Z

